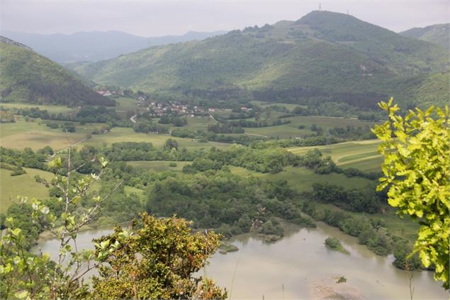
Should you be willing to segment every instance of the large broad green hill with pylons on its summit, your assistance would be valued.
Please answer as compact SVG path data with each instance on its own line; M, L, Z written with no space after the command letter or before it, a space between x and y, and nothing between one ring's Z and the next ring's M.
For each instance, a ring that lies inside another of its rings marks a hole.
M166 94L373 105L388 95L420 103L403 92L405 79L427 82L449 69L448 57L444 48L353 16L313 11L298 21L152 47L76 70L99 84Z

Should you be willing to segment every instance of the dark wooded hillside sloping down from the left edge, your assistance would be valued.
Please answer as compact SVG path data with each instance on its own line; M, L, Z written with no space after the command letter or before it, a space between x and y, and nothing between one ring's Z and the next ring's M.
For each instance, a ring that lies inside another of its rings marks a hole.
M0 38L0 99L41 104L115 106L57 63L25 45Z

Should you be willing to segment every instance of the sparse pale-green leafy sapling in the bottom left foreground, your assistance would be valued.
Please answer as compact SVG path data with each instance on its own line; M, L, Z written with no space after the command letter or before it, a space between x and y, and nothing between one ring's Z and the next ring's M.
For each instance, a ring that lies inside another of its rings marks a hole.
M59 240L57 260L50 261L50 257L42 252L40 255L31 255L27 251L28 240L23 223L19 218L6 218L6 234L1 235L0 241L2 299L77 299L89 294L82 276L97 266L95 260L101 259L101 255L94 257L92 250L78 250L77 235L82 227L98 216L101 203L108 195L92 196L94 206L91 207L82 206L81 199L88 196L89 189L100 179L107 162L101 157L99 174L75 177L76 171L84 164L74 167L71 154L72 147L69 145L65 165L60 157L49 164L55 174L51 183L60 191L59 197L53 199L62 205L59 213L50 210L47 204L38 199L32 199L31 206L27 204L26 197L19 198L18 203L18 206L23 207L23 217L32 221L34 227L47 230ZM67 170L64 176L61 174L63 170ZM113 192L114 189L111 190ZM114 246L106 250L110 251Z

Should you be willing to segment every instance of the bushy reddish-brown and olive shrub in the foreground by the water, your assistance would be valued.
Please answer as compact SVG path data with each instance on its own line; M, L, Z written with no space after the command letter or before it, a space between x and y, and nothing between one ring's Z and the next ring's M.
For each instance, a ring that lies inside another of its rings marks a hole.
M209 279L192 274L206 265L219 247L215 233L192 233L180 218L158 219L142 214L130 232L115 232L96 240L102 257L99 277L94 277L94 299L225 299ZM118 248L103 255L103 248Z

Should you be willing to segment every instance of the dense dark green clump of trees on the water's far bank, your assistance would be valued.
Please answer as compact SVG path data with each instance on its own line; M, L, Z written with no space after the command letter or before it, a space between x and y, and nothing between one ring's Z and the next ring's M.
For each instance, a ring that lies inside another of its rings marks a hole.
M227 171L168 177L149 190L147 211L192 220L196 228L216 228L225 235L248 232L277 216L313 226L291 203L295 191L286 182L262 182Z

